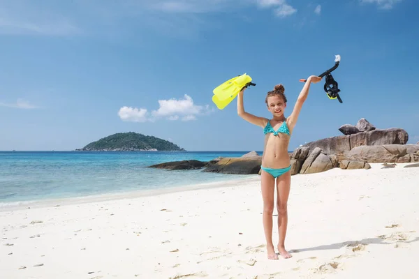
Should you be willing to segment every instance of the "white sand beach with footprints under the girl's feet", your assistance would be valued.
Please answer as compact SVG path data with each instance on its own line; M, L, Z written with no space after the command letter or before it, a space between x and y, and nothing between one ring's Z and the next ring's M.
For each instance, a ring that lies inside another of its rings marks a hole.
M419 167L404 165L292 176L291 259L267 259L258 176L3 207L0 278L418 278Z

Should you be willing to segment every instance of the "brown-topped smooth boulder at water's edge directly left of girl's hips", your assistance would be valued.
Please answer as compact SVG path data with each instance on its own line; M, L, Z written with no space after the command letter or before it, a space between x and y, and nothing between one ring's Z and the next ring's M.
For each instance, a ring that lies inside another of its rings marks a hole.
M261 156L250 158L221 158L218 162L208 165L203 172L221 174L258 174L262 163Z

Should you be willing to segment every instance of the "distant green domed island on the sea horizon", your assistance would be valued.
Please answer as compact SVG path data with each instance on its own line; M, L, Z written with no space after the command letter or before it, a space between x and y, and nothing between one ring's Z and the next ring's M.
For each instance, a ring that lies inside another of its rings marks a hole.
M186 151L181 147L159 137L139 133L116 133L91 142L75 151Z

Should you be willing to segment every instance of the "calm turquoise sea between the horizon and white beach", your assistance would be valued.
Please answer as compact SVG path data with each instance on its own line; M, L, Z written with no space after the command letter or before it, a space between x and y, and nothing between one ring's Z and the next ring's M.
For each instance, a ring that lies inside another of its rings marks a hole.
M240 157L248 152L0 151L0 206L245 179L249 176L148 166L177 160Z

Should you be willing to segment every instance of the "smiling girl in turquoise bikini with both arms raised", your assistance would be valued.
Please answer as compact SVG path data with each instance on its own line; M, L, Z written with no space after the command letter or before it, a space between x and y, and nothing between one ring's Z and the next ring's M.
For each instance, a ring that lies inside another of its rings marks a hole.
M265 144L262 156L262 169L260 183L262 185L263 197L263 229L265 231L267 258L278 259L272 243L272 213L274 211L274 192L275 180L277 181L277 211L278 211L278 230L279 230L279 255L288 259L291 255L285 249L286 227L288 223L287 202L291 188L291 169L290 157L288 155L288 144L297 123L298 115L302 104L309 94L310 84L321 81L321 77L311 75L304 84L300 96L297 98L294 110L286 118L284 110L286 108L286 96L284 86L276 85L273 91L267 93L265 103L267 110L272 113L272 119L258 117L244 111L243 93L240 91L237 98L237 114L242 119L263 128L265 134Z

